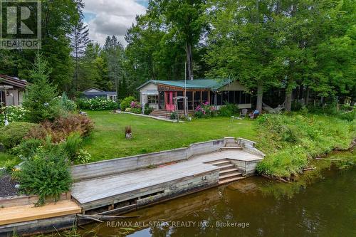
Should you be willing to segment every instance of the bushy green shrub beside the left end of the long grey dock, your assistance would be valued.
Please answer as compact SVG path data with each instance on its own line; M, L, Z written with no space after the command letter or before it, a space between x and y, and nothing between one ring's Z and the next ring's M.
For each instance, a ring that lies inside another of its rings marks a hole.
M58 200L72 184L66 152L59 147L38 152L33 159L23 162L19 182L21 191L39 196L37 205L44 204L46 197Z

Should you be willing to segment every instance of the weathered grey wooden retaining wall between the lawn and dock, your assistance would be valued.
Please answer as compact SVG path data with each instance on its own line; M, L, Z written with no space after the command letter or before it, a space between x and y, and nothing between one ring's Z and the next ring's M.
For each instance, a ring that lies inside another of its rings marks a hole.
M179 162L189 159L197 154L216 152L225 146L225 139L216 139L209 142L198 142L189 147L172 149L169 151L155 152L150 154L140 154L132 157L93 162L90 164L80 164L72 167L72 178L74 181L93 179L97 177L131 172L137 169L155 167L169 162Z

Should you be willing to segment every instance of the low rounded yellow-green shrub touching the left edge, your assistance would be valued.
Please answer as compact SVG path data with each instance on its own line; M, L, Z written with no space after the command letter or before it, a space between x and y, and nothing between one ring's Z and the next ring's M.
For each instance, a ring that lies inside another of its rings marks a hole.
M29 130L36 127L38 125L29 122L11 122L8 126L0 128L0 143L6 149L15 147L17 144L20 144Z

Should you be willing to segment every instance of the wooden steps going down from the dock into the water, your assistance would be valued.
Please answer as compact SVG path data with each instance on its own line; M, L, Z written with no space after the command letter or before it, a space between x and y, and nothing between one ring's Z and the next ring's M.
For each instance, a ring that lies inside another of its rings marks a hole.
M219 159L213 162L206 162L205 164L211 164L219 167L219 184L228 184L232 181L244 179L239 169L235 168L235 165L231 163L229 159Z

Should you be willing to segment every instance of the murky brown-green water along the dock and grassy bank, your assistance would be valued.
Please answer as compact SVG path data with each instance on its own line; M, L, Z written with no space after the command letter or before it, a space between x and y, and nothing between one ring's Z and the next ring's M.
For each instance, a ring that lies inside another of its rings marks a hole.
M329 165L293 184L251 177L85 229L88 236L356 236L356 167Z

